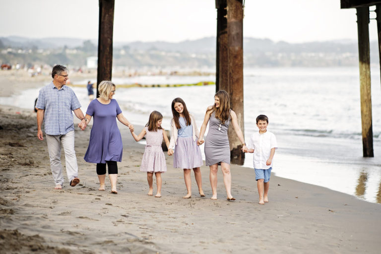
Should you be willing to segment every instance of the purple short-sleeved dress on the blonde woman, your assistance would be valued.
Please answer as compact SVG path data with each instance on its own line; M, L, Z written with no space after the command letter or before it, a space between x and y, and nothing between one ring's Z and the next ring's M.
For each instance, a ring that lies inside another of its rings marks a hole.
M121 113L115 99L111 99L109 104L102 104L97 99L90 102L86 114L93 117L94 123L84 157L86 162L122 161L122 136L116 119Z

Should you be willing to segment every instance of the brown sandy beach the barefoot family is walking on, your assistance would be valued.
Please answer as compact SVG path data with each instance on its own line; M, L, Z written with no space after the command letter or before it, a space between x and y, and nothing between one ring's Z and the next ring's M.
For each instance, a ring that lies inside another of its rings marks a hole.
M50 79L30 80L1 73L0 96ZM183 199L183 171L174 169L167 155L162 197L148 196L146 174L139 172L144 145L123 126L118 194L110 192L108 178L106 191L98 191L95 164L83 160L91 124L84 131L75 125L81 182L69 187L64 174L63 190L54 190L35 113L0 106L1 253L381 252L380 204L272 176L269 203L260 205L254 170L237 165L231 167L236 201L226 200L221 171L218 200L209 199L206 166L201 167L206 197L198 195L192 173L192 197Z

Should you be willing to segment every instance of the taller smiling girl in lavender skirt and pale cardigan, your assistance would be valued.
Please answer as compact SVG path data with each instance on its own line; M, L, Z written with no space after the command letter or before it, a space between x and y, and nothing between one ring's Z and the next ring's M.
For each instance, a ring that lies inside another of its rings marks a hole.
M200 196L205 196L204 191L202 191L200 171L200 167L202 166L202 154L200 147L197 145L200 131L197 128L193 115L188 112L183 99L175 98L172 101L171 109L173 119L171 121L171 141L168 154L172 155L173 149L175 148L173 167L184 170L184 181L188 193L183 196L183 198L190 198L192 195L192 169L198 192Z

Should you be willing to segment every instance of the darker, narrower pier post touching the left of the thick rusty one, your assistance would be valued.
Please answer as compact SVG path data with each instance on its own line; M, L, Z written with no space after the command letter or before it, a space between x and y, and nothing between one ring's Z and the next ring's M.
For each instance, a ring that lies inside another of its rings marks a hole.
M226 0L216 0L216 92L219 90L227 90L228 86L228 23L226 7Z

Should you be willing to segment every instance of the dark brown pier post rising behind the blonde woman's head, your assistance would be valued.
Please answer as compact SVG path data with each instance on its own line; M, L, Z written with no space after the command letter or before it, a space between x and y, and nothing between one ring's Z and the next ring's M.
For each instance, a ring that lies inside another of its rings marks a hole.
M99 0L99 34L98 34L98 85L103 80L111 80L113 68L113 27L115 0Z

